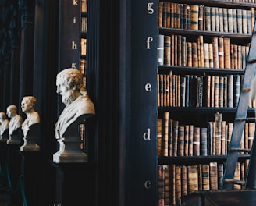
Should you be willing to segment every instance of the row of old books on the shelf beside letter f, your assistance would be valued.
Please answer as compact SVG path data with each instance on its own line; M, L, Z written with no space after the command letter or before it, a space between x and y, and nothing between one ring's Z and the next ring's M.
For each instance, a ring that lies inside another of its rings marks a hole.
M158 35L158 65L220 69L245 69L250 44L231 44L228 37L204 42L187 41L182 35Z

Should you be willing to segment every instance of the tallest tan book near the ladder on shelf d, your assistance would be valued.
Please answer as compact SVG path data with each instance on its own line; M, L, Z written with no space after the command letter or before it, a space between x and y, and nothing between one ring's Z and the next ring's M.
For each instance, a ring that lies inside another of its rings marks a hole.
M215 155L221 154L222 113L215 113Z

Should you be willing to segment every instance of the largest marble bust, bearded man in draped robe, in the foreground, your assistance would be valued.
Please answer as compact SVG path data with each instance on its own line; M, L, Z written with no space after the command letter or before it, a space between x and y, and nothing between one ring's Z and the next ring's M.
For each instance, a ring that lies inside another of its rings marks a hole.
M66 107L55 123L59 151L53 155L53 161L86 162L87 156L80 150L81 137L77 128L95 114L95 109L84 88L83 75L77 69L64 69L56 76L56 87Z

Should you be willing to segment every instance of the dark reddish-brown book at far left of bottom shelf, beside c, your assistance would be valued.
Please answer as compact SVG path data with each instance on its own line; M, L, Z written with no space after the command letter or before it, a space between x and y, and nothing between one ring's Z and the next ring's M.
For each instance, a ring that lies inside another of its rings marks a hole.
M158 206L165 205L165 165L158 165Z

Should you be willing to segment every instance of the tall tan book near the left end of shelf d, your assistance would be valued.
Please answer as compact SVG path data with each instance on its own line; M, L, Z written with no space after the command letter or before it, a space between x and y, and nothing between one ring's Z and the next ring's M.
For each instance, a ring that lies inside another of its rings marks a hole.
M169 141L169 112L163 113L162 118L162 156L168 156Z

